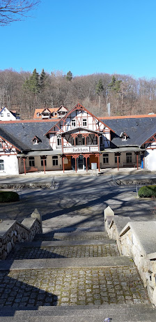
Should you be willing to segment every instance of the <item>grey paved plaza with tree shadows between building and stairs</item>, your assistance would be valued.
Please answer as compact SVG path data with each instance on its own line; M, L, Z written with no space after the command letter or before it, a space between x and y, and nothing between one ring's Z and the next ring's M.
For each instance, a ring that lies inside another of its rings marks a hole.
M34 181L34 178L31 180ZM39 177L38 180L43 179ZM47 177L46 180L52 181L52 177ZM8 181L14 182L13 178ZM104 175L56 177L55 181L60 184L56 190L17 190L20 202L12 203L11 207L9 204L2 204L0 219L22 221L37 208L42 214L44 233L77 229L103 231L103 210L110 205L115 214L129 216L134 220L155 220L152 212L155 200L137 198L136 185L118 186L111 176Z

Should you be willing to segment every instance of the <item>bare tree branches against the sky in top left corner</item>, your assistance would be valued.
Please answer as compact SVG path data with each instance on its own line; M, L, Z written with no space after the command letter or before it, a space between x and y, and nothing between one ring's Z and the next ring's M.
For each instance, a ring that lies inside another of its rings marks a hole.
M0 26L22 20L39 2L40 0L0 0Z

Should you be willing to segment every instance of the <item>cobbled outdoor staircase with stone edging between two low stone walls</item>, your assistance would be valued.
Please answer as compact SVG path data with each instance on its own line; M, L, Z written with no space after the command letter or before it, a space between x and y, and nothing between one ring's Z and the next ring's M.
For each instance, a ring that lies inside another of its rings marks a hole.
M0 322L156 321L132 259L107 233L36 235L0 267Z

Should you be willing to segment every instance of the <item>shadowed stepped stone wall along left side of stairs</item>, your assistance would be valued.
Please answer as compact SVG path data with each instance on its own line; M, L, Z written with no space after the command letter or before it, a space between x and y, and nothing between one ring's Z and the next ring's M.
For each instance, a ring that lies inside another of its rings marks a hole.
M22 223L9 219L0 221L0 259L5 259L17 242L33 240L36 233L42 233L42 217L38 210Z

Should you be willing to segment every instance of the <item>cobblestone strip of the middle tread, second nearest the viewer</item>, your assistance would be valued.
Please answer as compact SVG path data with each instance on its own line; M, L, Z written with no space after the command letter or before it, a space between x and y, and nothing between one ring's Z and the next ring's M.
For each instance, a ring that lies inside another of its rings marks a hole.
M119 256L114 244L65 246L65 247L20 247L18 251L12 251L8 259L33 259L33 258L72 258L72 257L106 257Z

